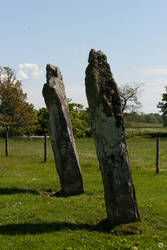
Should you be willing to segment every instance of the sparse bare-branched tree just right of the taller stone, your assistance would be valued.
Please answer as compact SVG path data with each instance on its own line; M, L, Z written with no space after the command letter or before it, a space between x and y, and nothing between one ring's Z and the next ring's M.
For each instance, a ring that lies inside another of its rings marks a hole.
M138 100L140 85L126 84L119 88L121 103L122 103L122 112L129 110L134 112L141 107L141 103Z

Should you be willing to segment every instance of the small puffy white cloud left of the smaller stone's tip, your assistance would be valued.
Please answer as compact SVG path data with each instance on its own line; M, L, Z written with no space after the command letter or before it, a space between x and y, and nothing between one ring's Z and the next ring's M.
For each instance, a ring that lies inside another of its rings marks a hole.
M17 73L17 79L19 80L29 80L38 79L43 76L43 70L39 68L37 64L33 63L23 63L19 64L19 71Z

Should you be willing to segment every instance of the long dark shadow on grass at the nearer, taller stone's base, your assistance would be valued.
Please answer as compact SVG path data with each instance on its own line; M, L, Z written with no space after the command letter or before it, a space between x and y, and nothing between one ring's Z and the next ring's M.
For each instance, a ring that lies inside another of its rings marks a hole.
M17 235L17 234L43 234L51 233L55 231L63 230L86 230L89 232L98 231L103 233L112 233L114 235L131 235L131 234L141 234L136 226L126 224L121 225L121 228L113 226L103 220L96 225L89 224L75 224L70 222L53 222L53 223L20 223L20 224L8 224L0 226L0 234L3 235Z

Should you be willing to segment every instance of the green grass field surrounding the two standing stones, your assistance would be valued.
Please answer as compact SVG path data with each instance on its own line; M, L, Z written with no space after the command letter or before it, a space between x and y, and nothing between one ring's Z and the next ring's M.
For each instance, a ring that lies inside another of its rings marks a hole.
M50 144L43 163L41 139L10 139L9 157L0 140L0 249L167 249L167 140L159 175L155 139L127 141L141 222L110 230L95 227L106 211L93 140L76 142L85 193L57 198L44 195L60 190Z

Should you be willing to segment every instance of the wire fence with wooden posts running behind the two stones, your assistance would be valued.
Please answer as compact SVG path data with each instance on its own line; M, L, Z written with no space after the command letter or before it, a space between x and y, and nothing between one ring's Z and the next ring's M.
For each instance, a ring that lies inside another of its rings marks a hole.
M91 151L88 150L90 144L92 145ZM92 139L77 140L80 161L92 160L92 153L95 154L93 144ZM127 144L132 167L154 169L157 174L167 169L167 139L132 139ZM5 139L0 138L0 157L5 158L5 155ZM9 138L8 157L14 157L16 160L20 157L31 158L41 163L54 161L50 138L44 136ZM97 160L96 156L93 159ZM0 167L0 171L5 171L5 168L2 169L1 163Z

